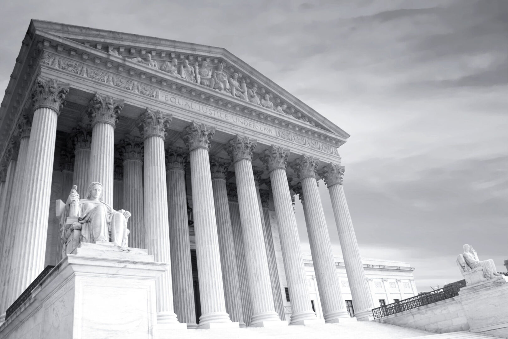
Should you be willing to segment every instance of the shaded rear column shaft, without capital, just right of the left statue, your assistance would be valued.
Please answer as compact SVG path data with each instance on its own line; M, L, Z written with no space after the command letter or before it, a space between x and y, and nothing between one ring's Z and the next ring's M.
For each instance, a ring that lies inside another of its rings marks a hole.
M129 219L129 247L146 249L143 211L143 162L123 161L123 201L121 207L131 212Z

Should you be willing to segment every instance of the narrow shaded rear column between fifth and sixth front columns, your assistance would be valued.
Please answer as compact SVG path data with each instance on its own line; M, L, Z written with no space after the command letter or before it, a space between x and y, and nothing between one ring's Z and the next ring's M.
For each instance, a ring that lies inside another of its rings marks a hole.
M259 211L261 214L261 225L263 226L263 237L265 239L266 257L268 259L268 270L270 272L270 282L272 285L273 303L275 312L277 312L280 320L285 320L284 303L282 294L280 293L279 273L277 270L277 261L275 259L275 249L273 246L272 230L270 224L266 222L265 213L263 211L263 203L261 202L261 192L259 189L261 175L263 170L252 168L254 173L254 184L256 186L256 195L258 196ZM265 192L268 195L268 192ZM268 198L266 196L266 198Z

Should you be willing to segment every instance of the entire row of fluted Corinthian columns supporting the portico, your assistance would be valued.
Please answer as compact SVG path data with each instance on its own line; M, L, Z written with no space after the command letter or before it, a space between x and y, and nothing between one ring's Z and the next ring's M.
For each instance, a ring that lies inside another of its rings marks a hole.
M3 272L4 278L0 282L5 288L4 291L8 291L2 293L6 297L5 300L4 297L2 299L0 312L5 312L6 307L44 268L56 120L68 90L68 84L60 84L53 79L39 78L35 86L31 134L26 145L26 156L21 150L19 152L18 158L23 156L22 170L16 171L20 173L22 180L18 180L20 189L15 192L20 193L19 197L13 200L13 206L19 203L19 208L9 208L7 219L12 220L12 224L3 223L2 227L2 232L5 229L5 232L10 230L16 234L4 238L3 251L10 251L6 257L11 260L10 264L6 265L7 271ZM110 205L113 202L114 127L122 106L123 101L96 94L88 108L92 121L91 136L89 131L82 129L75 137L75 165L80 167L75 166L74 183L79 184L79 192L84 195L86 184L92 181L101 182L104 187L103 199ZM172 269L156 281L157 322L177 324L178 314L181 322L195 327L183 172L185 155L181 150L170 150L165 154L164 138L170 121L171 116L147 108L138 120L142 143L141 140L132 138L121 141L124 190L128 193L124 195L123 203L125 209L130 209L132 214L136 215L130 223L131 244L147 248L156 261L172 263ZM231 221L234 212L230 214L226 193L228 166L220 159L213 159L210 163L208 154L214 132L213 128L192 122L182 133L182 139L188 147L193 183L202 309L199 326L263 326L266 322L278 322L280 319L275 311L274 300L277 298L274 298L275 289L270 278L270 251L267 254L267 230L266 226L263 226L259 183L257 186L252 170L252 152L256 141L237 135L225 146L231 156L237 181L241 230L235 231ZM140 159L142 148L144 159ZM292 303L290 324L305 324L317 320L309 302L292 197L285 171L289 153L288 149L271 146L260 158L270 173L285 275ZM300 176L306 204L312 206L306 208L307 229L316 267L316 279L322 304L326 309L325 320L334 322L346 317L347 313L343 309L323 208L317 193L316 167L317 161L302 156L294 169ZM332 198L346 270L348 276L351 274L349 279L352 282L353 299L361 314L372 305L362 299L366 295L367 300L370 300L368 290L364 289L367 282L342 190L342 174L343 167L329 165L322 175ZM5 186L2 192L7 192ZM5 227L7 225L11 227ZM243 271L237 260L238 236L241 237L240 247L244 254ZM12 241L13 245L6 245L6 241ZM348 269L348 262L354 267ZM241 293L239 277L247 281L248 296ZM177 302L176 307L174 301Z

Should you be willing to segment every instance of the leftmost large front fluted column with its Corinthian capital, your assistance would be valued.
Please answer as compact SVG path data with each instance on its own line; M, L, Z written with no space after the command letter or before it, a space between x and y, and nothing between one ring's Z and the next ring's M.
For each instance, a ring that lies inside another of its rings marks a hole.
M69 84L38 78L33 91L34 118L23 171L11 269L11 300L44 269L51 196L56 120Z

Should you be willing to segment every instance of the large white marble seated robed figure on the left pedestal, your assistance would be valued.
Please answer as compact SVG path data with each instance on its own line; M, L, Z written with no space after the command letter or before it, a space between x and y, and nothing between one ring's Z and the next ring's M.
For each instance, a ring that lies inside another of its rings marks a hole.
M71 217L77 217L75 219L77 221L70 223L68 219ZM67 199L65 211L61 215L61 237L66 241L74 230L80 230L79 242L95 243L111 239L115 245L127 247L130 233L127 229L127 221L130 217L130 212L123 209L115 211L102 201L100 182L90 184L88 196L85 199L79 199L74 186Z

